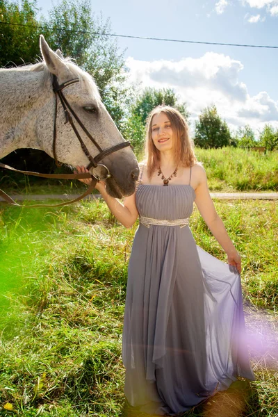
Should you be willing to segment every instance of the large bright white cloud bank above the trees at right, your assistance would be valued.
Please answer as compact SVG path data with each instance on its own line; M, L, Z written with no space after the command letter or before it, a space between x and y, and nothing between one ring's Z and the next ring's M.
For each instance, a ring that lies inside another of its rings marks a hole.
M174 89L188 104L192 122L204 107L215 104L233 130L250 124L257 131L267 122L278 127L278 101L268 92L251 97L239 80L243 64L229 56L207 52L200 58L151 62L127 58L126 66L130 81L140 83L141 88Z

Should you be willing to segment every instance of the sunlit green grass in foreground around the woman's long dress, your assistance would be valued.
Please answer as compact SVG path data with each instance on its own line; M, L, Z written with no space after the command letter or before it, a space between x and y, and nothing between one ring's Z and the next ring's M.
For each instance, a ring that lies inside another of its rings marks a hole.
M277 203L215 206L243 254L245 300L268 309L275 326ZM3 207L0 416L122 416L122 320L136 225L124 229L101 201L59 210ZM190 227L198 245L225 259L196 210ZM278 374L267 359L254 358L256 382L232 386L218 407L232 409L244 400L245 416L277 416ZM186 415L210 416L216 400ZM3 408L7 404L12 411Z

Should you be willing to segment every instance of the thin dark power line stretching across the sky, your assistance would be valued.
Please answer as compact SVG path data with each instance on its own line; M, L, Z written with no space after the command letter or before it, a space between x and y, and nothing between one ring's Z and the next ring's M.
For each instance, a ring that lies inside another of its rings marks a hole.
M90 31L74 31L72 29L64 28L49 28L49 26L35 26L31 24L19 24L19 23L10 23L10 22L0 22L0 24L6 24L8 26L24 26L29 28L43 28L49 29L52 31L65 31L73 33L90 33L91 35L100 35L100 36L113 36L115 38L130 38L130 39L143 39L143 40L159 40L163 42L180 42L180 43L189 43L189 44L205 44L205 45L220 45L224 47L244 47L244 48L268 48L268 49L278 49L278 46L270 45L252 45L252 44L232 44L224 42L204 42L197 40L181 40L181 39L167 39L167 38L149 38L146 36L133 36L133 35L117 35L116 33L101 33L101 32L90 32Z

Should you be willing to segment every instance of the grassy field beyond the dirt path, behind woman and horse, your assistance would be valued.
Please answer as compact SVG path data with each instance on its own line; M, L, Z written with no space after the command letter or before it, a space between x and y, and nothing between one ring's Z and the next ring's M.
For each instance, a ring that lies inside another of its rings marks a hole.
M278 191L278 152L260 154L247 149L195 148L198 161L204 164L211 191ZM140 161L142 157L138 155ZM59 168L59 172L61 169ZM20 194L79 193L79 181L48 181L3 171L0 188Z

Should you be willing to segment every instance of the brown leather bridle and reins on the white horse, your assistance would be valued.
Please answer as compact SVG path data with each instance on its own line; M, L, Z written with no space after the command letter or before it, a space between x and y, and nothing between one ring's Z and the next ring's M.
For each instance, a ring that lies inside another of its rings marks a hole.
M101 159L105 158L106 156L111 155L111 154L113 154L114 152L117 152L120 149L123 149L124 147L128 147L128 146L131 147L131 143L128 142L128 141L125 141L125 142L122 142L122 143L118 143L117 145L114 145L114 146L109 147L107 149L101 149L101 147L99 146L97 141L92 137L90 132L85 128L84 124L81 122L79 117L73 111L69 102L67 101L67 99L63 95L63 89L67 88L69 85L72 85L74 83L79 83L79 79L72 79L70 81L66 81L63 84L59 84L56 75L53 76L52 87L53 87L53 90L54 90L54 93L55 93L55 116L54 116L52 151L53 151L55 163L56 163L57 166L60 166L60 164L58 163L58 158L57 158L57 154L56 154L56 137L57 137L56 122L57 122L57 108L58 108L58 99L57 98L59 98L60 103L62 104L64 113L65 113L65 123L70 122L70 125L72 126L72 129L73 129L76 137L78 138L78 140L80 142L80 145L83 149L83 152L84 152L85 156L87 156L88 160L90 161L89 165L87 166L87 169L90 170L90 168L92 168L92 167L97 168L99 165L101 165L102 167L104 167L106 169L106 177L104 179L100 178L97 174L94 174L94 172L92 172L92 174L90 174L90 172L84 172L84 173L81 173L81 174L40 174L40 172L16 170L15 168L10 167L9 165L0 163L1 168L5 168L7 170L11 170L11 171L14 171L14 172L19 172L19 173L25 174L25 175L33 175L34 177L53 178L53 179L85 179L85 178L91 178L92 179L92 182L91 182L88 190L85 191L85 193L83 193L81 196L77 197L76 199L72 199L68 202L63 202L63 203L59 203L59 204L32 204L31 206L24 206L22 204L17 204L8 194L6 194L3 190L0 190L0 196L8 204L12 204L13 206L17 206L17 207L60 207L60 206L66 206L67 204L72 204L72 203L75 203L75 202L79 202L79 200L83 199L86 195L89 195L90 193L92 193L92 190L94 190L96 183L100 179L103 179L105 181L106 179L111 178L111 173L109 172L108 167L106 167L106 165L104 165L102 163L99 163L99 161L101 161ZM79 126L81 127L81 129L83 130L85 135L88 136L88 138L92 141L92 143L95 145L95 147L97 147L97 150L99 151L99 154L97 154L97 156L95 156L95 158L90 154L90 152L88 151L88 148L85 146L85 143L83 142L83 140L82 140L82 138L79 134L79 131L76 129L76 126L74 124L72 116L74 117L74 120L76 120L76 122L79 124Z

